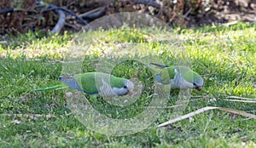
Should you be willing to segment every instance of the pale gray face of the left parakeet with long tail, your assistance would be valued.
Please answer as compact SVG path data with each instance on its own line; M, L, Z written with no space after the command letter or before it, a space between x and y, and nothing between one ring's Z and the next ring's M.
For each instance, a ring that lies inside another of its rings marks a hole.
M122 88L113 88L113 93L116 95L132 94L133 88L133 83L130 80L127 80Z

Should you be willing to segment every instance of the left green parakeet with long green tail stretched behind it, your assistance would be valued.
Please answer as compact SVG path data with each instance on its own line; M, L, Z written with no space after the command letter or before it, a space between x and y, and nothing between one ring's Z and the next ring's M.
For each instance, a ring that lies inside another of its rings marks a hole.
M74 77L60 77L66 85L56 85L49 88L38 88L34 91L49 89L74 88L85 94L100 94L102 97L131 94L133 83L122 77L114 77L102 72L87 72Z

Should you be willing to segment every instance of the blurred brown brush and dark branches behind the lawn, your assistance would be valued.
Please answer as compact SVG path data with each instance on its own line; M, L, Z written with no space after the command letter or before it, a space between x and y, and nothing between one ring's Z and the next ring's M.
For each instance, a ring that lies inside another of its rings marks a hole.
M1 0L0 35L48 32L60 18L59 30L79 31L106 14L138 12L154 15L171 26L194 27L234 21L256 22L256 0ZM73 14L71 14L73 13ZM79 18L84 20L82 22ZM235 22L236 23L236 22Z

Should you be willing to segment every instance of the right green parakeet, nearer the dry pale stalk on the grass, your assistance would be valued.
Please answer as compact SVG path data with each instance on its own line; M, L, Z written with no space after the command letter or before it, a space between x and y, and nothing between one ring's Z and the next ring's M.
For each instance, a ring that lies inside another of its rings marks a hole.
M182 65L168 66L155 63L150 64L162 68L155 77L157 82L163 84L171 83L171 88L195 88L201 91L204 81L198 73L192 71L189 67Z

